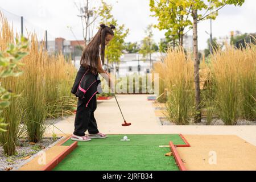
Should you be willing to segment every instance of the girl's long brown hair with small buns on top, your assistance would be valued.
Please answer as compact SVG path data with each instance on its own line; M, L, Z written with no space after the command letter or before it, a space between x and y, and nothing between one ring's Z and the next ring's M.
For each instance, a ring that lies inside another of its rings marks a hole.
M115 29L115 26L113 26L113 24L110 24L110 27L106 26L105 24L100 25L100 29L98 30L97 34L94 35L93 39L82 51L82 56L80 60L81 67L84 67L86 69L89 68L90 71L96 75L100 46L101 64L104 65L105 38L107 34L114 36L114 32L112 29Z

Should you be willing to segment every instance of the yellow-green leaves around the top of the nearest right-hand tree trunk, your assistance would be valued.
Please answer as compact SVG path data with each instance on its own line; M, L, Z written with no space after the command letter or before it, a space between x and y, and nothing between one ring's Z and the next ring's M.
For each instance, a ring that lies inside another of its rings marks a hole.
M158 24L154 27L159 30L167 30L165 36L174 42L179 40L183 46L183 36L187 27L192 29L192 22L189 19L192 9L205 10L205 13L197 15L197 21L204 19L216 19L218 10L226 5L241 6L244 0L150 0L150 11L158 18ZM175 44L174 44L175 45Z

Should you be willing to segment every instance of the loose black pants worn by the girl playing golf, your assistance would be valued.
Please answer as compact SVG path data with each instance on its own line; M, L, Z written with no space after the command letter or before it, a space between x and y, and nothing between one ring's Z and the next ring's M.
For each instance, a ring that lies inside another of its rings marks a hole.
M97 134L99 131L97 129L97 122L94 118L94 111L97 108L96 95L90 100L88 107L86 107L87 100L82 100L79 97L76 110L75 118L75 131L74 135L84 136L85 131L88 130L89 134Z

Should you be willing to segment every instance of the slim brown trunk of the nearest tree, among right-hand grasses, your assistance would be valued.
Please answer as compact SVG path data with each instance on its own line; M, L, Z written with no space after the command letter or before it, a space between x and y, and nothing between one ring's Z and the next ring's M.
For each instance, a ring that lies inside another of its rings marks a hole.
M198 42L197 42L197 10L192 10L193 16L193 54L194 54L194 81L195 81L195 99L196 99L196 113L195 123L201 122L200 109L200 79L199 79L199 56L198 56Z

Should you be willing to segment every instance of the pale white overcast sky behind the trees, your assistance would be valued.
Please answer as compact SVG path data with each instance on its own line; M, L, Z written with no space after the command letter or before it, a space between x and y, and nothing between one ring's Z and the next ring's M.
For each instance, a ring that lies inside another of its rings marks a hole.
M130 29L126 42L137 42L145 36L144 30L148 24L157 23L156 18L151 17L149 0L105 0L113 5L114 18L119 24L125 24ZM0 0L0 7L10 13L24 17L24 24L36 28L36 32L43 35L48 31L48 37L63 37L67 40L82 39L81 20L74 2L79 0ZM81 0L82 2L82 0ZM98 6L100 1L93 0L93 5ZM245 0L242 7L226 6L220 10L216 20L213 21L213 37L219 38L230 35L230 31L239 30L242 33L256 32L256 1ZM1 10L1 9L0 9ZM15 28L20 28L18 16L3 11L9 20L12 20ZM73 33L67 28L72 27ZM207 47L209 35L209 20L199 23L199 49ZM94 31L96 32L96 31ZM188 33L192 35L192 31ZM164 31L154 29L154 39L159 43L164 38Z

